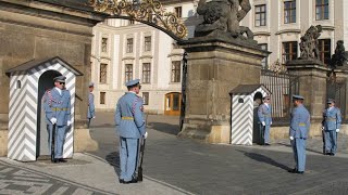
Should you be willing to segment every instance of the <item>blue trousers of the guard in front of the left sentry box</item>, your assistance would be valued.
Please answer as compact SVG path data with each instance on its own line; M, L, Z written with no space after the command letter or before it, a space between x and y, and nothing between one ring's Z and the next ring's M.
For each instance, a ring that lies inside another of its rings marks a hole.
M47 125L48 131L48 146L49 154L51 155L51 143L52 143L52 130L53 125ZM65 142L65 131L66 126L55 126L55 136L54 136L54 158L63 158L63 146Z

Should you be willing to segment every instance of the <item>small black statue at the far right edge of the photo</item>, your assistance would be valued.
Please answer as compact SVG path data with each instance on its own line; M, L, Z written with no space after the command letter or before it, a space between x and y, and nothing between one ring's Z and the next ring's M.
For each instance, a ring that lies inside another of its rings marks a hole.
M348 52L345 49L344 41L338 40L336 43L335 53L331 57L330 66L335 69L337 66L344 66L348 60Z

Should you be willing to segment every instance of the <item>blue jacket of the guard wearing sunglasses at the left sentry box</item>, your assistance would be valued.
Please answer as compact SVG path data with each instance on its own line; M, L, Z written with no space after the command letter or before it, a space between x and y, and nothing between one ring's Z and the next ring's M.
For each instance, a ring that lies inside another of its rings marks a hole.
M51 123L52 118L57 118L57 126L66 126L71 120L71 96L67 90L59 91L53 88L44 94L44 109L46 122Z

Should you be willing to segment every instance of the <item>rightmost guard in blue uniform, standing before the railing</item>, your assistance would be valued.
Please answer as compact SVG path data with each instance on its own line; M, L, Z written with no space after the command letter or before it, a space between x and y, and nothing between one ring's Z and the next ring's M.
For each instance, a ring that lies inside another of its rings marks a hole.
M335 100L327 100L328 107L323 112L324 154L334 156L337 150L337 133L339 132L341 116L339 108L335 107Z

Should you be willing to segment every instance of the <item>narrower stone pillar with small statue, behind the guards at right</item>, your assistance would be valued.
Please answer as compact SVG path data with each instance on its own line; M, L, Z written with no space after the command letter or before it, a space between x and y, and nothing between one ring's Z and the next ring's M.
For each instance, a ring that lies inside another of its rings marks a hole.
M298 76L299 94L311 115L310 136L321 135L321 121L326 106L327 73L331 68L320 61L295 60L287 64L289 74Z

